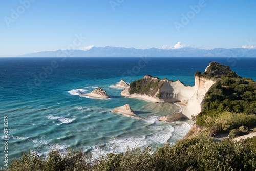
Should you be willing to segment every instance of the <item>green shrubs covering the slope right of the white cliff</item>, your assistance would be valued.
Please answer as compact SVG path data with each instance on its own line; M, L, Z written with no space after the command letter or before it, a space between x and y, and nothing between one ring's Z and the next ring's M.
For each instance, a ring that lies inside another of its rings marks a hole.
M206 93L202 112L197 117L197 124L206 127L214 126L217 132L226 132L240 126L255 126L255 114L256 82L247 78L223 78ZM241 120L237 120L236 115L240 115ZM220 126L220 123L216 123L217 121L228 121L230 123L225 124L229 127Z

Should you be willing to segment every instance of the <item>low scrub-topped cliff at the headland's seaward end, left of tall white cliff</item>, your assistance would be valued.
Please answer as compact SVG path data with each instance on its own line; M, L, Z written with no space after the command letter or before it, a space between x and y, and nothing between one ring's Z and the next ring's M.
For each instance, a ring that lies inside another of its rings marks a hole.
M193 93L194 87L185 86L179 80L174 82L146 75L132 82L121 95L154 103L173 103L189 100Z

